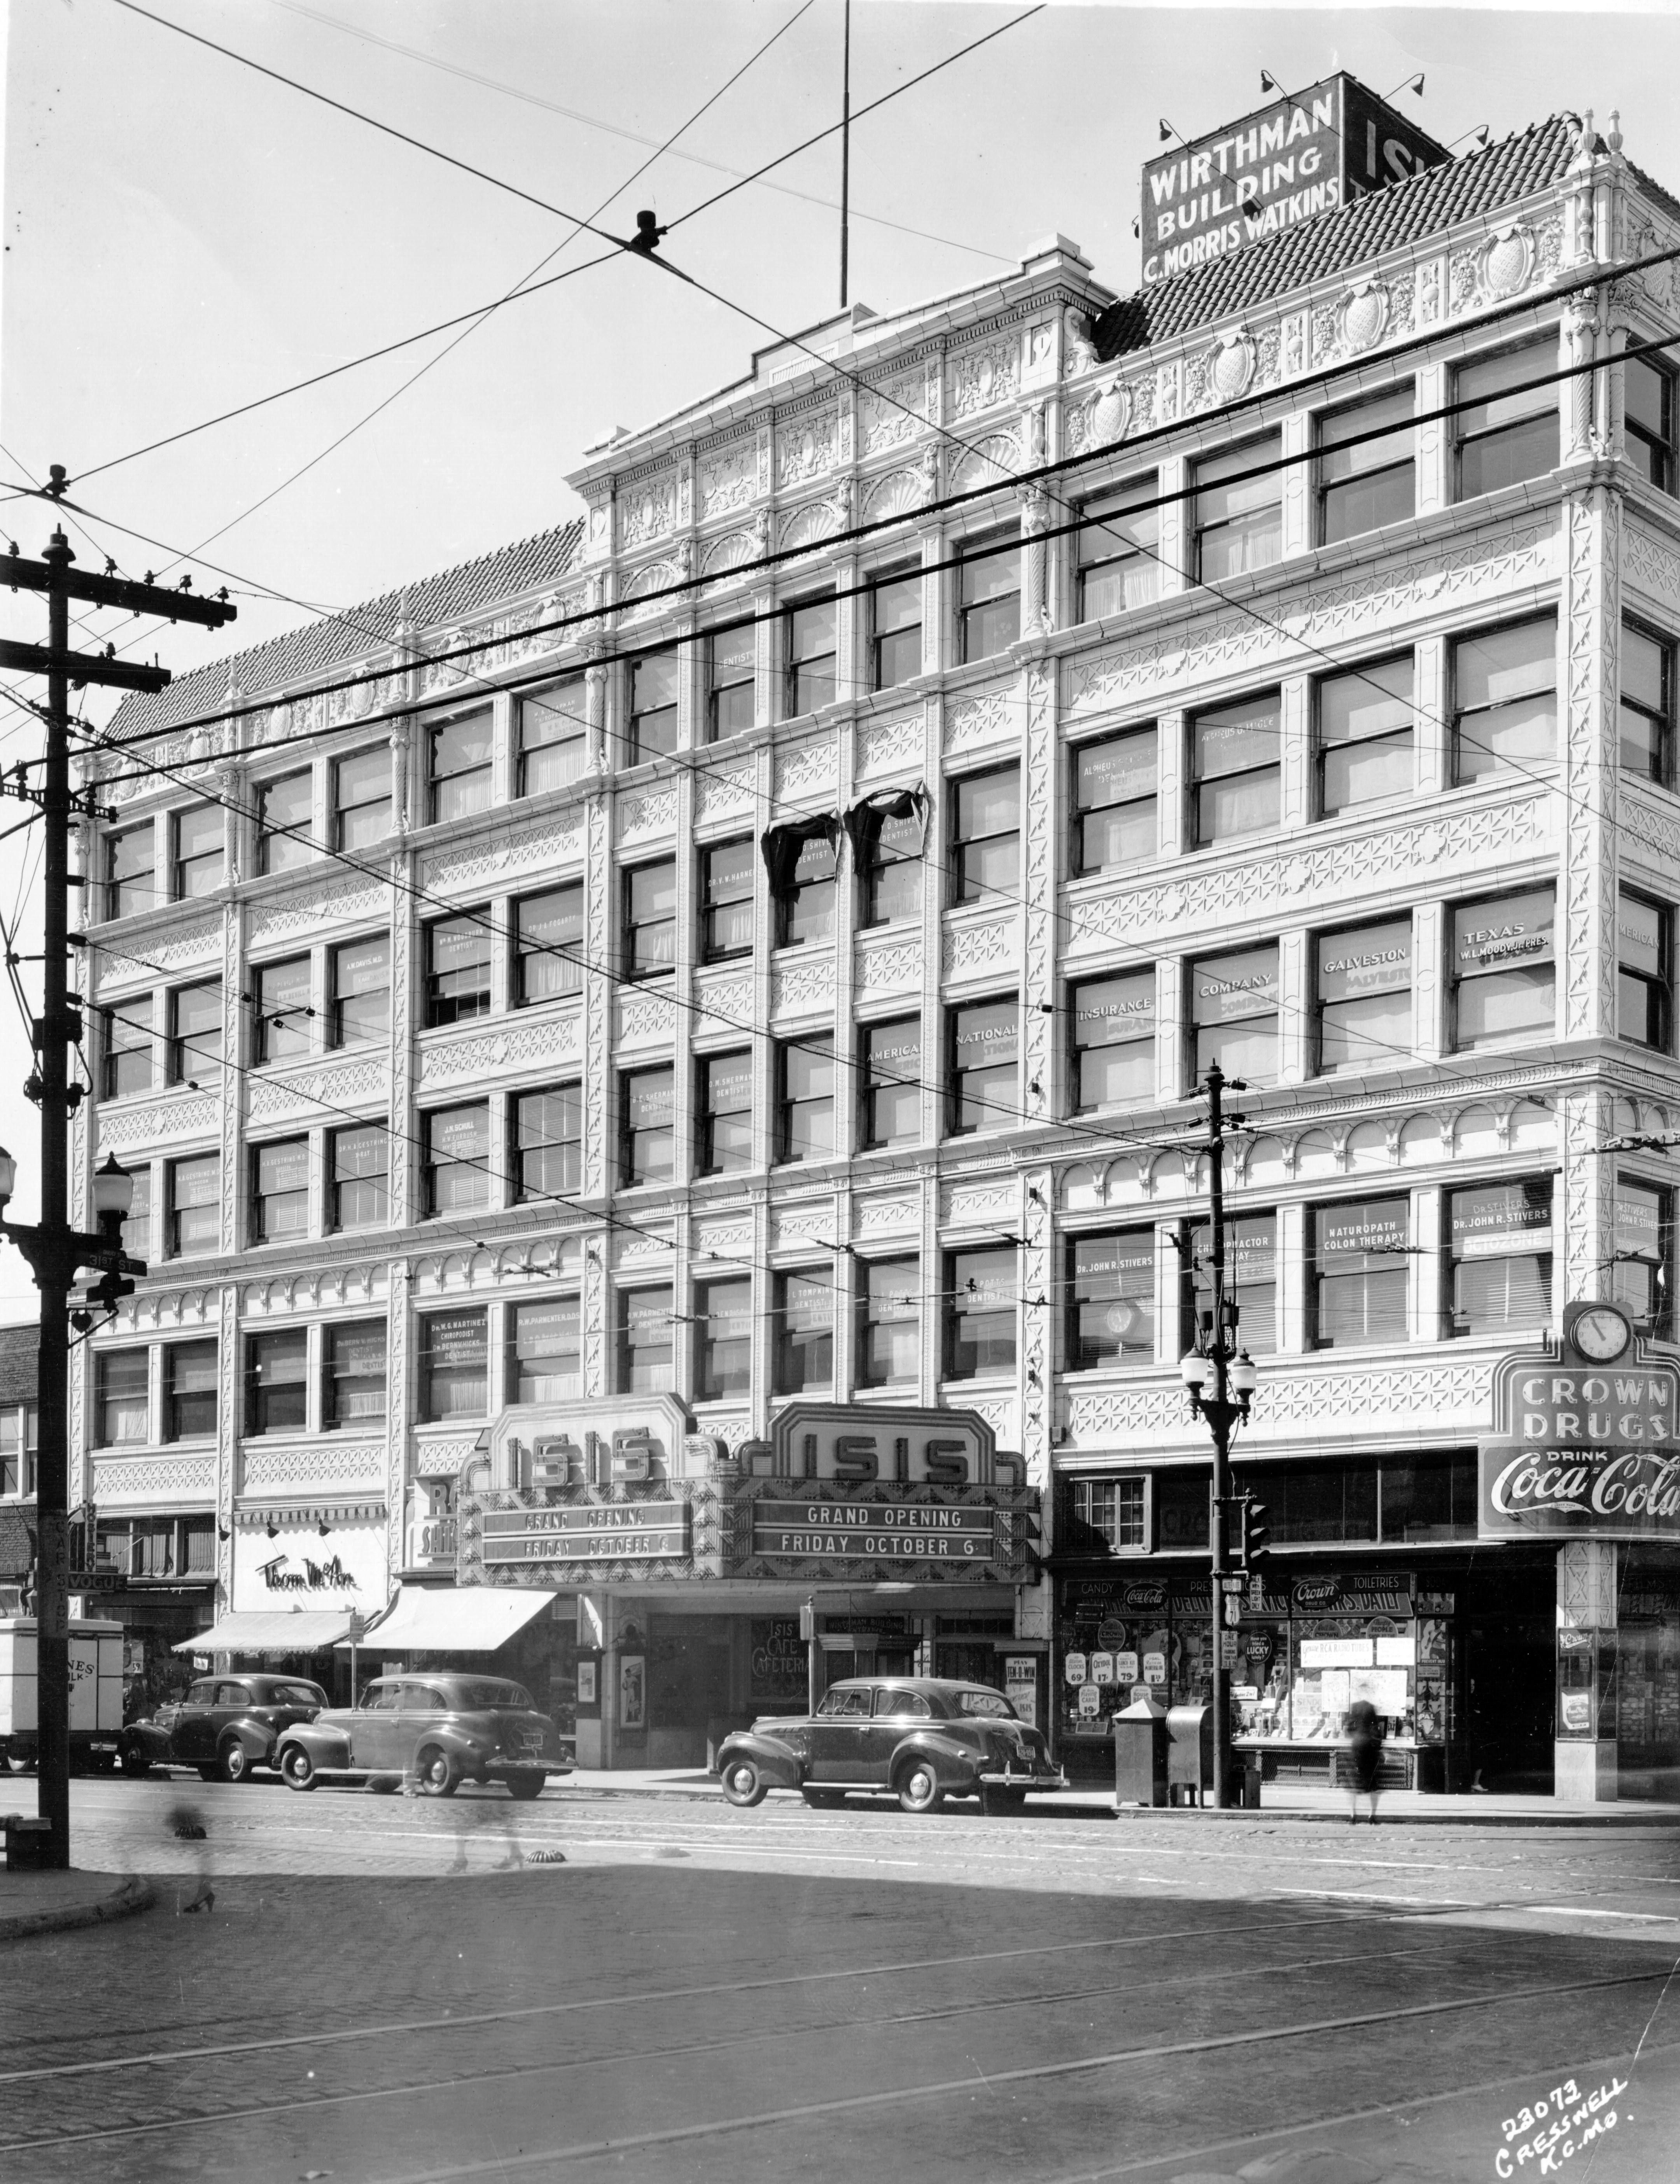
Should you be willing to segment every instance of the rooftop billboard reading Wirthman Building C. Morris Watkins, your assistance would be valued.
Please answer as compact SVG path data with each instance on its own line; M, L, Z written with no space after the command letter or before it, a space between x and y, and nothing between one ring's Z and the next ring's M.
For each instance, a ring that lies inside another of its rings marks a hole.
M1451 153L1348 74L1276 98L1143 170L1143 284L1230 258Z

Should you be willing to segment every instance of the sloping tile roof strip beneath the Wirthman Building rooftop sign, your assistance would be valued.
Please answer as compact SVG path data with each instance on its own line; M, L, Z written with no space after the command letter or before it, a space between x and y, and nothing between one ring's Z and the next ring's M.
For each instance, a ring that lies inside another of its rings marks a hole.
M1171 341L1197 325L1252 310L1274 295L1363 264L1403 242L1438 234L1499 205L1512 205L1560 181L1575 153L1575 120L1553 114L1503 144L1468 159L1431 166L1337 212L1285 227L1282 234L1232 258L1210 258L1193 273L1140 288L1112 304L1097 321L1097 354L1108 360L1156 341Z

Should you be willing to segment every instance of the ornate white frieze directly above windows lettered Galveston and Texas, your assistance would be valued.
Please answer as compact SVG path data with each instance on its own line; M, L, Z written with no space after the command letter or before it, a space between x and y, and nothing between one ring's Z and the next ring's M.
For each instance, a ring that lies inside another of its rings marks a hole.
M1359 902L1379 882L1403 887L1457 874L1486 876L1553 847L1549 795L1413 819L1324 847L1291 843L1267 856L1232 858L1188 880L1162 880L1073 902L1068 948L1182 939L1186 924L1206 933L1221 922L1247 917L1302 919L1320 906L1344 909Z

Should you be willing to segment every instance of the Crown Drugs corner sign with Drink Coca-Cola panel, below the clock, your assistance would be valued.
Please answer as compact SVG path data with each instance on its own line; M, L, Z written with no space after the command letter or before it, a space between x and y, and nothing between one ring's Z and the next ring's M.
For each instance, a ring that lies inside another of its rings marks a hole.
M1479 1448L1483 1540L1680 1538L1680 1374L1673 1365L1501 1367L1507 1435Z

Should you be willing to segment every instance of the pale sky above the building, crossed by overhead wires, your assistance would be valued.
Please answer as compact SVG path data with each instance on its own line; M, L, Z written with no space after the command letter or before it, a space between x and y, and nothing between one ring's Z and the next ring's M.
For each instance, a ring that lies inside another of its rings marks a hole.
M153 4L153 0L146 0ZM627 232L638 205L673 218L839 114L841 7L815 0L664 155L627 177L778 28L800 0L155 0L155 13L360 107L583 216ZM1005 22L963 0L856 0L852 103ZM0 480L72 478L164 432L502 295L590 238L360 122L127 13L114 0L28 0L7 44L0 258ZM413 48L409 52L393 46ZM1442 142L1496 135L1562 107L1621 107L1628 153L1680 192L1680 17L1597 9L1147 9L1053 4L852 140L852 299L896 310L968 286L1060 229L1099 280L1136 286L1138 168L1158 118L1195 138L1261 105L1258 72L1306 85L1348 68L1376 92L1427 72L1403 109ZM468 74L489 81L468 81ZM498 85L498 87L496 87ZM568 111L555 111L568 109ZM590 120L579 120L588 116ZM596 127L592 127L594 122ZM629 133L629 135L625 135ZM839 142L773 181L835 201ZM874 218L869 218L874 216ZM900 223L898 227L883 223ZM904 234L902 229L920 229ZM939 240L928 240L939 238ZM782 330L837 306L837 214L765 183L701 214L677 264ZM760 330L629 258L513 304L400 393L441 336L175 448L87 478L100 520L72 533L142 574L203 546L236 572L229 636L164 631L177 673L308 616L251 596L354 605L411 577L575 513L564 474L605 426L638 426L738 378ZM391 400L371 424L339 435ZM317 461L319 459L319 461ZM301 465L306 476L286 480ZM4 487L0 487L2 491ZM264 496L264 507L247 513ZM232 526L232 529L227 529ZM0 533L46 544L39 502L0 502ZM214 544L205 544L214 537ZM194 559L194 581L205 563ZM109 622L109 627L107 627ZM7 636L39 640L35 603ZM100 640L133 631L111 618ZM103 719L109 701L90 708ZM0 764L39 749L0 703ZM0 823L20 817L0 806ZM0 843L0 915L33 885ZM37 989L37 965L24 978ZM0 1142L33 1210L37 1118L17 1011L0 996ZM0 1251L0 1317L33 1291Z

